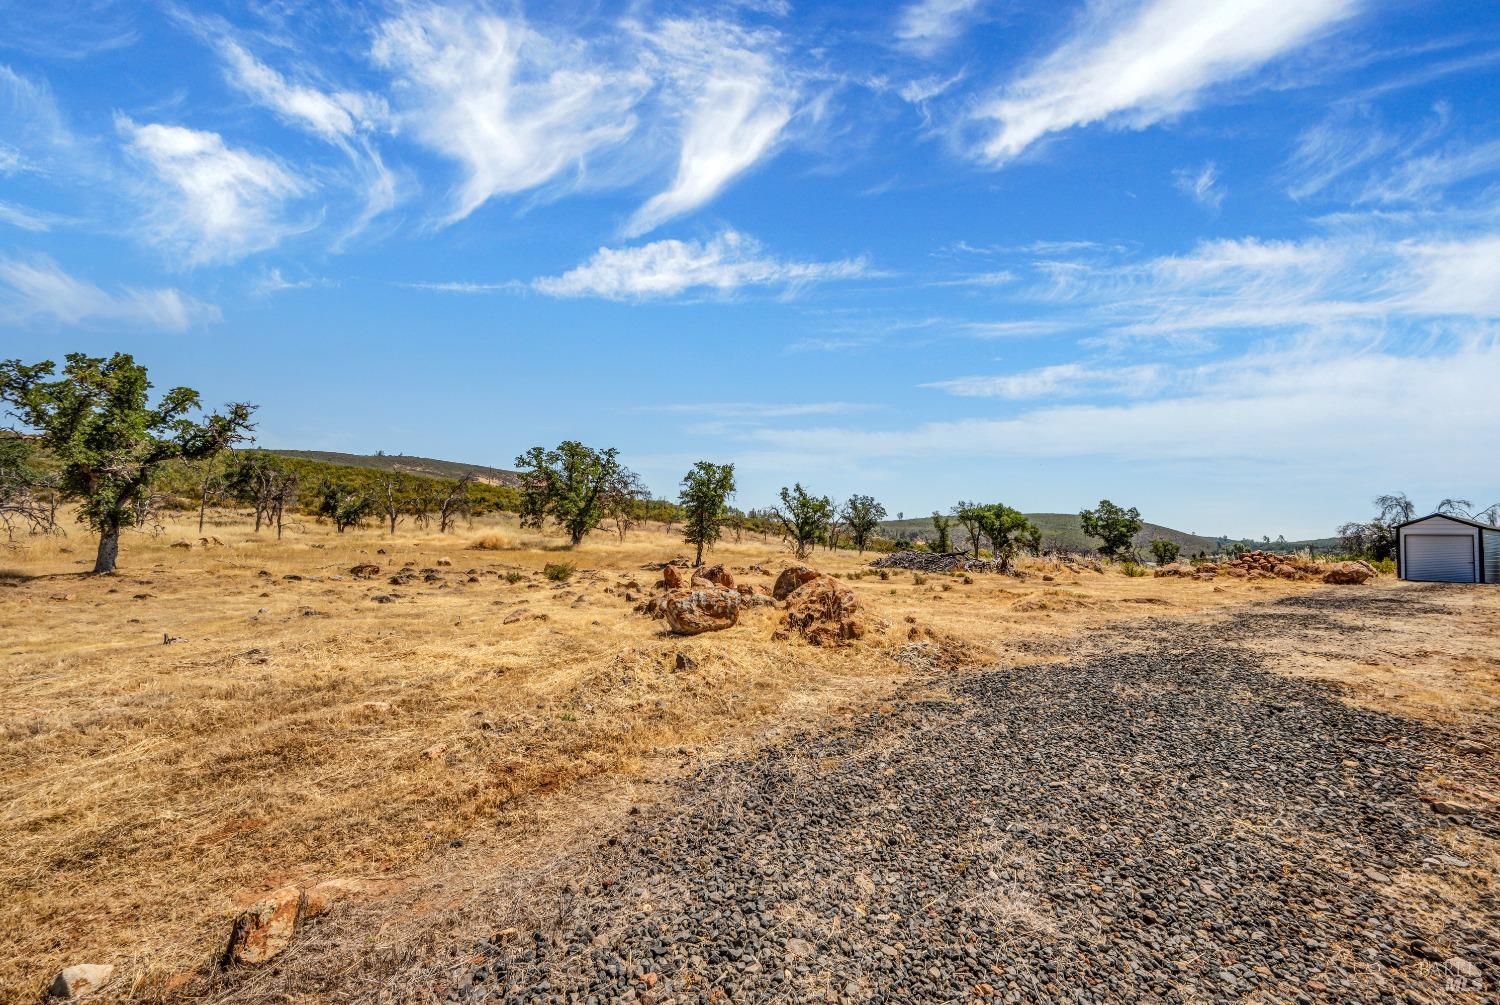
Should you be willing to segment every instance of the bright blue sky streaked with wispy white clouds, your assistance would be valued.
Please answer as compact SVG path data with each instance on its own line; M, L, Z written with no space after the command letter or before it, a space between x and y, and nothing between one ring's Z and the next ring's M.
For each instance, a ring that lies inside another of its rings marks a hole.
M264 446L1236 537L1500 500L1494 3L0 24L0 356L130 351Z

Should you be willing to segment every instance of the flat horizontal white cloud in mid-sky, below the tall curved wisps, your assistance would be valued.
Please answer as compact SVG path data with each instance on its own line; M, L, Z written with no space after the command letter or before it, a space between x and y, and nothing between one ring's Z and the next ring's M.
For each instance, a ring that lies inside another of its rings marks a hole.
M586 262L531 285L549 297L652 300L687 291L732 292L746 286L796 290L807 284L868 274L864 260L804 262L776 258L746 234L724 231L704 242L660 240L600 248Z

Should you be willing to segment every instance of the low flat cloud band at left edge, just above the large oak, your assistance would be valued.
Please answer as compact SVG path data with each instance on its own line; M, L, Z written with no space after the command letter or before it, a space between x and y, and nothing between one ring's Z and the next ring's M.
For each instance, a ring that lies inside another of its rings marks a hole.
M0 324L186 332L219 320L219 309L180 290L122 286L105 291L50 258L0 258Z

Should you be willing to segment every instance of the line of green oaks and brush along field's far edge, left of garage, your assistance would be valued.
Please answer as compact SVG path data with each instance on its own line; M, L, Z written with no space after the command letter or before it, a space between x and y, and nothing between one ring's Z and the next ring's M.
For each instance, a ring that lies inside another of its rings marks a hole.
M794 483L778 492L777 506L738 510L730 504L734 465L699 460L675 501L656 500L618 450L573 440L518 456L519 488L480 483L472 474L447 480L380 468L339 468L330 476L328 465L238 448L255 430L254 405L231 402L194 418L201 411L196 392L177 387L152 405L150 388L146 368L123 352L74 352L60 369L50 360L0 363L0 402L30 430L0 432L6 531L57 530L60 506L74 502L78 519L99 536L96 573L116 568L124 528L146 526L168 500L183 498L198 510L200 532L210 508L236 504L250 508L256 532L273 530L278 537L298 513L326 519L340 534L375 520L394 534L406 522L448 532L477 513L507 510L524 526L556 525L573 546L603 526L624 537L646 520L669 531L681 524L698 564L726 532L736 540L744 532L780 536L798 558L819 544L861 554L894 546L879 536L886 510L872 495L837 504ZM1102 554L1132 554L1142 526L1134 507L1102 500L1080 519ZM1038 528L999 502L964 501L950 514L933 513L934 550L951 550L954 528L968 536L966 550L975 556L988 544L1002 568L1041 548ZM1156 544L1170 542L1154 543L1154 550Z

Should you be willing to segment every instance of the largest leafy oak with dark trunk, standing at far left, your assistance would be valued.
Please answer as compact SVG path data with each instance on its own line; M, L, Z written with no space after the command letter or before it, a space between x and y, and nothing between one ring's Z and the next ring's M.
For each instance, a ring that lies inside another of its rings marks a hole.
M174 460L201 460L246 440L252 405L234 402L201 420L198 392L174 387L150 406L146 368L126 352L69 352L62 375L51 360L0 363L0 400L60 465L58 490L99 534L96 573L120 561L120 531L154 498L153 483Z

